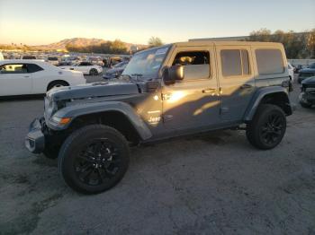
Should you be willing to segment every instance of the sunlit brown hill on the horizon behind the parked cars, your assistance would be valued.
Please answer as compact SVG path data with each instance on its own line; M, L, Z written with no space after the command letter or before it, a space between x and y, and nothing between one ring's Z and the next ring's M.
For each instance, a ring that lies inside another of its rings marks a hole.
M91 45L99 45L101 43L105 43L107 40L104 39L86 39L86 38L73 38L73 39L63 39L58 42L54 42L48 45L40 45L40 46L32 46L32 48L38 48L42 50L62 50L66 49L68 44L74 47L86 47ZM132 44L124 42L126 48L129 50L132 46L137 46L138 48L145 48L146 45L141 44Z

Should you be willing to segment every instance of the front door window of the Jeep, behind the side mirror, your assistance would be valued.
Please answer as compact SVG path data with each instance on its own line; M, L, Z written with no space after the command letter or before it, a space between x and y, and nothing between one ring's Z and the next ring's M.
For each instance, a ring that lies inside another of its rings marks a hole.
M173 65L184 65L184 79L204 79L210 76L209 51L179 52Z

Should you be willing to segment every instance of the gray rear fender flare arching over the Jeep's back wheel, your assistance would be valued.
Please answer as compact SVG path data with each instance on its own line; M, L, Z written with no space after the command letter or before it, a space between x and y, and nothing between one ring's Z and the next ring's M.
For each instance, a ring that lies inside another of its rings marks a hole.
M245 115L243 117L243 120L245 122L250 121L253 119L257 108L260 104L260 102L266 97L266 95L268 94L275 94L275 93L283 93L286 97L285 102L287 103L287 105L289 106L288 109L288 113L292 114L293 113L293 108L290 105L290 100L288 97L288 91L286 90L286 88L282 87L282 86L268 86L268 87L264 87L264 88L260 88L258 89L255 94L253 95L252 99L250 100L247 110L245 112Z

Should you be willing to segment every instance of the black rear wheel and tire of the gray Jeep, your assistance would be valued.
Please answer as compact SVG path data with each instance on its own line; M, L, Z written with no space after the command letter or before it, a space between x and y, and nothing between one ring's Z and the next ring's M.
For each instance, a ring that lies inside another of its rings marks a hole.
M284 110L272 104L263 104L257 109L253 120L247 124L247 140L258 149L272 149L280 144L285 130Z

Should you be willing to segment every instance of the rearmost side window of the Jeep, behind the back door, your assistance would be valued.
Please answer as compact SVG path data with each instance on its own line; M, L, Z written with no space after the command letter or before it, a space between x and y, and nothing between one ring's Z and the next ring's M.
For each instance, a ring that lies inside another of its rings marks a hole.
M284 60L278 49L257 49L257 68L259 74L284 73Z

